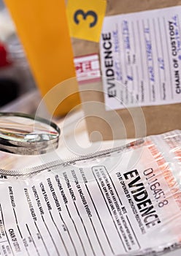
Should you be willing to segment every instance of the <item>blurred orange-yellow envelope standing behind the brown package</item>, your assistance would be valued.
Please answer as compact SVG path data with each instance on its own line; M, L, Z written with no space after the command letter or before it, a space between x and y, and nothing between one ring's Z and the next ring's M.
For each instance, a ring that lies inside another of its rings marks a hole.
M64 0L4 0L26 51L42 96L63 80L75 77L73 52ZM58 86L46 98L51 114L62 116L80 103L76 80ZM70 95L70 96L69 96ZM55 110L53 97L58 97ZM54 111L55 110L55 111Z

